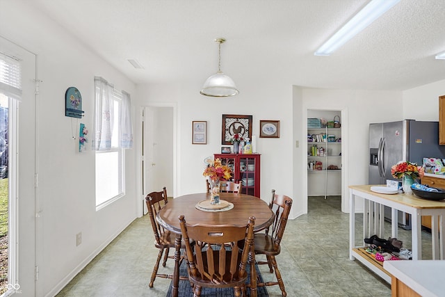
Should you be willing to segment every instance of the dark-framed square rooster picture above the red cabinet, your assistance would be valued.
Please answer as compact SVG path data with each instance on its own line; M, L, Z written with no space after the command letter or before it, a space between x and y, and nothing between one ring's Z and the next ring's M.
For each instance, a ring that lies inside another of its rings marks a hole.
M252 140L252 115L223 115L222 145L232 145L235 134Z

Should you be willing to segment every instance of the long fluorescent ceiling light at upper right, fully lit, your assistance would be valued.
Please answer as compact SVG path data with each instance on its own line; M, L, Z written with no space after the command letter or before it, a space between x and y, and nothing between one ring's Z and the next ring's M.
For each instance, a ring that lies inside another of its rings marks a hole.
M314 53L315 56L329 56L336 49L353 38L357 33L365 29L369 24L378 19L380 15L395 6L400 0L372 0L362 10L347 22L337 33L327 40Z

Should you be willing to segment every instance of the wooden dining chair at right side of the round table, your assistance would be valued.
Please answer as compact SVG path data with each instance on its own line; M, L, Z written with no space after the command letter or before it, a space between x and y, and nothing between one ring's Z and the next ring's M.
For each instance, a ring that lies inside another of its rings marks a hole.
M266 255L266 262L257 261L257 264L268 264L270 273L275 270L276 282L258 282L257 286L273 286L278 284L282 291L282 296L286 296L284 282L278 269L275 256L280 254L280 243L283 238L284 229L286 228L287 218L292 207L292 199L286 195L277 195L272 190L269 208L275 214L273 224L266 229L264 233L254 234L254 250L255 255Z

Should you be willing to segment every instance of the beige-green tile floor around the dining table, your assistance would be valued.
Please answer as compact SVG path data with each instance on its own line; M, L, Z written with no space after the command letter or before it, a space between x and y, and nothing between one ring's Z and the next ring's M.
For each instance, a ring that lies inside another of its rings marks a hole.
M337 196L311 197L308 214L289 220L277 257L288 296L391 296L389 284L357 261L349 260L349 215L341 212ZM357 246L362 237L362 216L356 216ZM385 234L391 234L387 224ZM389 236L389 235L388 235ZM411 232L399 228L398 239L410 248ZM431 236L422 232L423 259L431 257ZM58 297L68 296L162 296L170 280L157 278L149 288L149 277L158 250L154 248L147 216L138 218L86 266ZM172 260L159 273L172 271ZM264 279L272 280L267 265ZM164 271L164 272L163 272ZM278 286L268 287L270 296L281 296Z

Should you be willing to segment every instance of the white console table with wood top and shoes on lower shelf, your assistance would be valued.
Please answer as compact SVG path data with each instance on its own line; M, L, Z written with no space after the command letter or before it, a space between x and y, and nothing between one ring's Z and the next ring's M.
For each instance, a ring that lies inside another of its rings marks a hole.
M444 259L445 238L442 230L445 228L445 202L417 198L408 194L380 194L371 191L371 185L349 186L349 257L357 259L374 273L391 283L391 275L383 268L382 262L373 259L363 246L355 246L355 198L364 199L363 239L376 234L387 238L384 234L384 207L391 207L391 237L397 238L397 210L411 214L412 219L412 259L422 259L421 247L421 216L431 216L432 259ZM437 224L437 218L439 223ZM364 242L362 239L362 242Z

